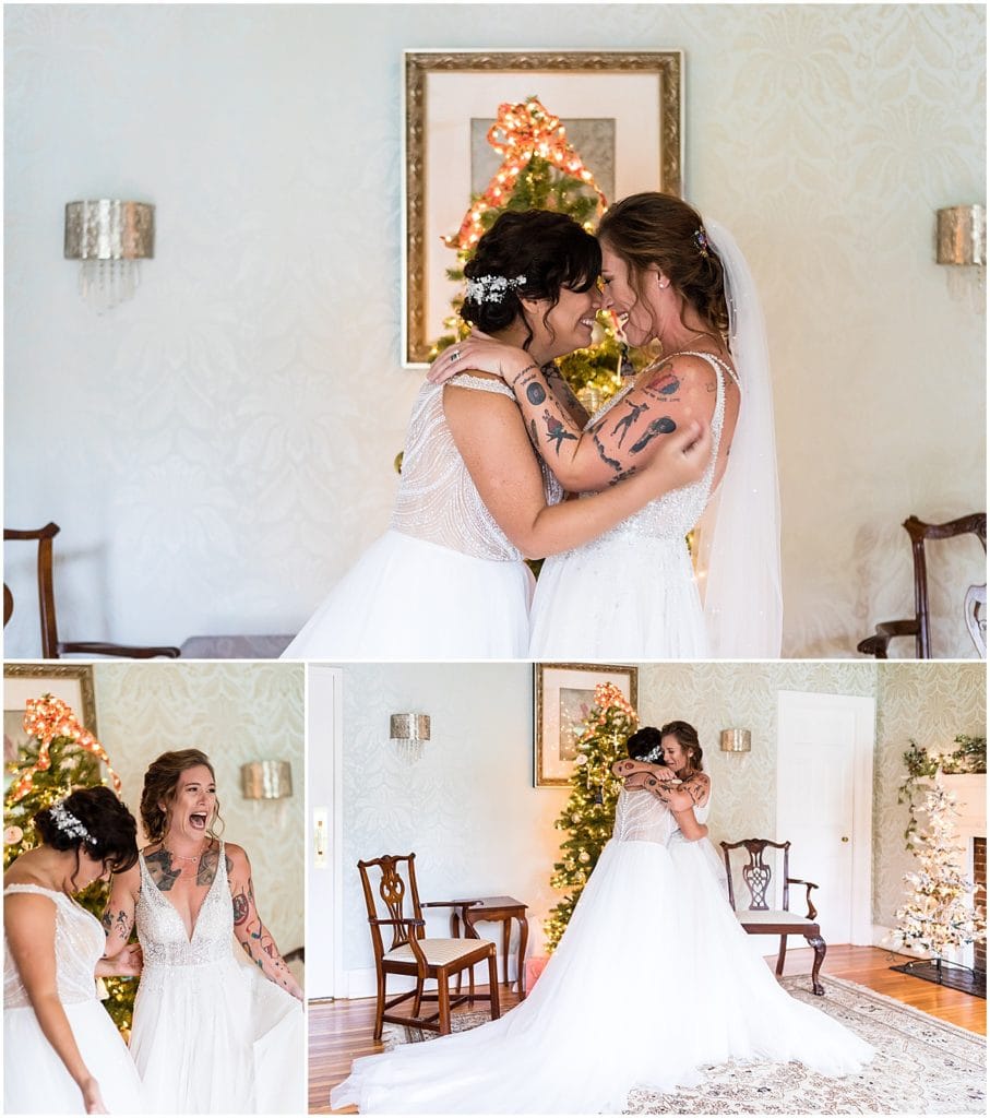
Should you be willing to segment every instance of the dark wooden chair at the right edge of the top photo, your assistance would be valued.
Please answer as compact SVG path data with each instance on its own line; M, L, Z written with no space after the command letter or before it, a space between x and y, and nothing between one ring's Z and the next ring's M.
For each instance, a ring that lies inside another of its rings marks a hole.
M914 617L899 622L880 622L873 636L856 645L857 652L877 660L887 659L887 646L896 636L913 636L915 655L918 660L930 660L932 655L932 627L929 616L929 574L925 563L925 541L948 540L955 536L972 533L987 552L987 513L975 512L969 517L946 521L944 524L926 524L911 515L904 521L911 537L911 558L914 565ZM971 586L963 597L963 617L967 628L982 657L987 656L987 584Z

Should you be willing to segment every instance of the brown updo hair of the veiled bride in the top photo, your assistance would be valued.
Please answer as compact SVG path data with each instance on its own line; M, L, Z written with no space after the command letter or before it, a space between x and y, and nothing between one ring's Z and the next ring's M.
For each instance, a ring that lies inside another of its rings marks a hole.
M725 272L715 249L707 244L702 216L693 206L674 195L630 195L606 210L598 237L629 266L629 278L638 294L642 294L647 268L659 268L712 328L713 337L725 341Z

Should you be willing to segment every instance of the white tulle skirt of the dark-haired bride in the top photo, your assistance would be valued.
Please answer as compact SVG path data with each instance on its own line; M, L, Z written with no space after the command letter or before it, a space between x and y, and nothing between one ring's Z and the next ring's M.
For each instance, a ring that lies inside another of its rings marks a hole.
M389 529L334 587L283 659L516 660L533 576Z

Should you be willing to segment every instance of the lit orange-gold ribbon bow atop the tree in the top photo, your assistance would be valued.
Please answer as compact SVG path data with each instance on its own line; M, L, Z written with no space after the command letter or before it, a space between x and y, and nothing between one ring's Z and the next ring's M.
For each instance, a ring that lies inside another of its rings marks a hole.
M548 112L536 97L498 106L498 116L488 129L488 143L502 155L502 165L484 193L472 205L456 236L444 238L448 248L474 248L484 231L482 214L501 209L511 197L522 169L534 155L545 159L562 173L586 183L598 195L598 212L608 201L577 150L568 141L559 116Z

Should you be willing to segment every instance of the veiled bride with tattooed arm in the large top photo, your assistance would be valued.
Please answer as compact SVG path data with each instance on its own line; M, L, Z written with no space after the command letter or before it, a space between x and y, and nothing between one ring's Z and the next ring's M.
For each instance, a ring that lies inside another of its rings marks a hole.
M617 202L598 236L605 306L625 320L632 345L658 341L663 356L587 425L554 402L525 353L501 340L473 338L453 360L442 353L430 378L477 369L502 376L526 421L537 424L540 454L573 492L600 491L644 468L685 423L711 424L713 445L698 480L543 565L530 655L777 657L773 409L746 262L727 230L668 195ZM685 544L692 530L697 571Z

